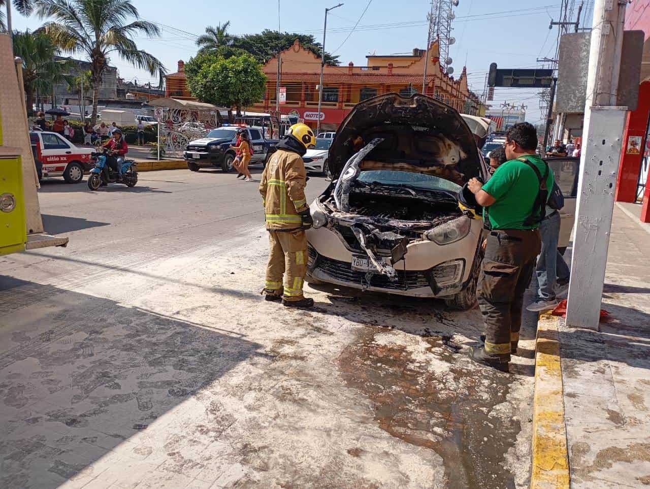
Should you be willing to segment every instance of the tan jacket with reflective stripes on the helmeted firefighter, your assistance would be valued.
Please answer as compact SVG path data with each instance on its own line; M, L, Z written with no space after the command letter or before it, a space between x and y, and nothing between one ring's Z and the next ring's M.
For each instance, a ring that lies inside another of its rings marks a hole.
M300 228L299 212L307 209L307 172L298 153L278 149L266 163L259 193L266 214L266 229Z

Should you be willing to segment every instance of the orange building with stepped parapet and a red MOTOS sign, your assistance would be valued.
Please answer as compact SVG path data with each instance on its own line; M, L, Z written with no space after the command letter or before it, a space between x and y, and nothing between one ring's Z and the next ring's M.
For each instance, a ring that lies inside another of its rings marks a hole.
M334 131L359 101L389 92L405 96L422 92L424 63L428 96L441 99L459 112L482 113L481 101L467 86L465 68L458 79L447 75L439 63L437 41L429 50L413 49L411 55L367 56L367 66L326 65L323 75L323 96L318 113L318 84L320 82L320 58L300 46L298 40L280 53L280 86L286 90L286 101L279 104L281 114L291 114L316 127L320 117L322 131ZM276 81L278 59L273 57L263 66L268 81L264 98L247 111L269 112L276 109ZM185 86L184 63L179 61L177 73L167 75L166 96L189 98Z

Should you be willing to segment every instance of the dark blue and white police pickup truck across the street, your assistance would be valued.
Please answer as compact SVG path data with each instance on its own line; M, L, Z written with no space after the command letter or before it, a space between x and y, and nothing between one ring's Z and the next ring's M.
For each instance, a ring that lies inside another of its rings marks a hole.
M278 139L266 139L262 127L224 124L217 129L212 129L205 137L189 142L183 153L187 168L196 172L199 168L216 166L224 172L231 172L235 150L230 146L235 144L237 130L242 127L248 132L248 138L253 146L254 153L250 163L266 163L266 153L278 144Z

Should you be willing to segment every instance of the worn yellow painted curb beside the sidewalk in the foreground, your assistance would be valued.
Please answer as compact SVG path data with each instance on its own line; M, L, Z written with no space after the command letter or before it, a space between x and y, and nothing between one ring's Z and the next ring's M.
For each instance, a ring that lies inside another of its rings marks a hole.
M539 315L535 347L532 426L532 489L569 488L558 317Z

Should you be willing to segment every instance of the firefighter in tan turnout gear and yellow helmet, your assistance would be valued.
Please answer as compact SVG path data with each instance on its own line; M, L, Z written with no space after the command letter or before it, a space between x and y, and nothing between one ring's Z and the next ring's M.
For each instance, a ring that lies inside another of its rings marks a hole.
M309 126L302 123L291 126L268 159L259 184L270 246L262 293L266 300L282 300L287 307L314 305L313 299L302 295L307 272L305 230L313 224L305 198L307 172L302 156L315 143L316 137Z

